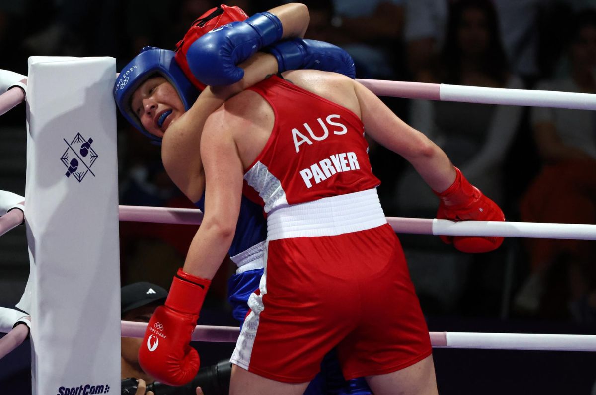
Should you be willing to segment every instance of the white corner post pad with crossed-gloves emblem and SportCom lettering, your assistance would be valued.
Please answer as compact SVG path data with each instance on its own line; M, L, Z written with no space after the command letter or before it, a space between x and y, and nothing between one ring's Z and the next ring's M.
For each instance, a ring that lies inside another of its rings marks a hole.
M121 391L115 75L111 57L29 58L35 395Z

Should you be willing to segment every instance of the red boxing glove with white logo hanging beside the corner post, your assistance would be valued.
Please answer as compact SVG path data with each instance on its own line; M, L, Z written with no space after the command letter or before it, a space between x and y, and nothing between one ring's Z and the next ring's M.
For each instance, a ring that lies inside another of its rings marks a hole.
M139 349L139 365L158 381L183 385L197 374L200 359L190 341L210 283L178 269L165 305L151 316Z

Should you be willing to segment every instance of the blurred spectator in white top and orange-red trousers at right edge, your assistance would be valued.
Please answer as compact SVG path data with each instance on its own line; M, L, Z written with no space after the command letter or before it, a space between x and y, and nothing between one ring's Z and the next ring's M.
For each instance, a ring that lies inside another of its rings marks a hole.
M596 93L596 11L577 14L567 47L568 73L539 84L540 90ZM594 113L532 109L542 171L527 190L523 221L596 223L596 120ZM514 303L548 317L596 322L596 243L527 239L530 273Z

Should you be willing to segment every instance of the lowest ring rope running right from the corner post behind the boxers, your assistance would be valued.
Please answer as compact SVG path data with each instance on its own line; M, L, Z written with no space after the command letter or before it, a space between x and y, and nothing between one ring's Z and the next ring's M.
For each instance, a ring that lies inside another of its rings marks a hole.
M142 338L146 323L122 321L122 337ZM201 326L193 341L235 342L240 328ZM596 351L596 335L491 334L468 332L429 332L437 348L486 348L491 350Z

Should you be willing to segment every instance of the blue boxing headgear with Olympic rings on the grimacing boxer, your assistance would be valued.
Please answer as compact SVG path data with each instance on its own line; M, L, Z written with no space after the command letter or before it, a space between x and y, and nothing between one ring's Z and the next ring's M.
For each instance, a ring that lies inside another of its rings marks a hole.
M135 90L150 76L159 74L163 76L178 92L188 110L197 100L197 88L191 84L174 59L174 52L156 47L144 47L120 72L114 84L114 100L120 112L131 125L139 129L142 134L151 139L154 144L161 144L162 138L148 132L131 109L131 97Z

